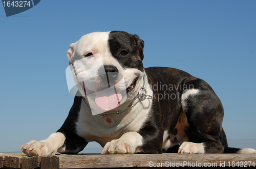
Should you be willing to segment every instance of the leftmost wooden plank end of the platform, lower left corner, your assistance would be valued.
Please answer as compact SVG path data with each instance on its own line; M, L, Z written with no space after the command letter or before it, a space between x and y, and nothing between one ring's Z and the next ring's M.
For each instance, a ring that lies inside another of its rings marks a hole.
M7 154L4 159L4 167L21 168L22 158L28 157L25 154Z

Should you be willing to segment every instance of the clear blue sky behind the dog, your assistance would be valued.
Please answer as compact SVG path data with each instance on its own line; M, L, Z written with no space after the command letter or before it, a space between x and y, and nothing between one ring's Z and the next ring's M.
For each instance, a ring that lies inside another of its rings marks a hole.
M73 103L65 75L69 45L112 30L144 40L144 67L178 68L207 81L224 106L229 146L256 149L255 7L236 0L46 0L6 17L0 5L0 152L20 151L59 129Z

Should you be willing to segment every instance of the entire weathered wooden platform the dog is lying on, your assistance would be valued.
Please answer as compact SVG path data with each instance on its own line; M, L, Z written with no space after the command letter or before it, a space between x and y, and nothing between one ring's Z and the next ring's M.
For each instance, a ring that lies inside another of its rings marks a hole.
M255 154L77 154L28 157L0 155L0 167L21 169L108 168L150 166L255 166Z

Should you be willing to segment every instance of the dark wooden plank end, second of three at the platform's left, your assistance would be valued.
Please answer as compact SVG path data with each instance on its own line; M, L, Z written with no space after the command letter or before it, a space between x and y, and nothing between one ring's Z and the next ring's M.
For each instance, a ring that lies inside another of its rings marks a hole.
M42 156L22 158L22 169L39 168Z

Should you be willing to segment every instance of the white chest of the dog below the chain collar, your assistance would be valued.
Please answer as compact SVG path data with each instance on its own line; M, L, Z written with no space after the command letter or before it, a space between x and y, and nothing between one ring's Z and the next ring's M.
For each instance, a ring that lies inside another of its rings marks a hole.
M87 142L98 142L101 146L113 139L120 138L129 131L139 131L151 110L152 100L143 100L134 106L131 111L122 115L92 116L88 108L81 103L76 122L76 132Z

